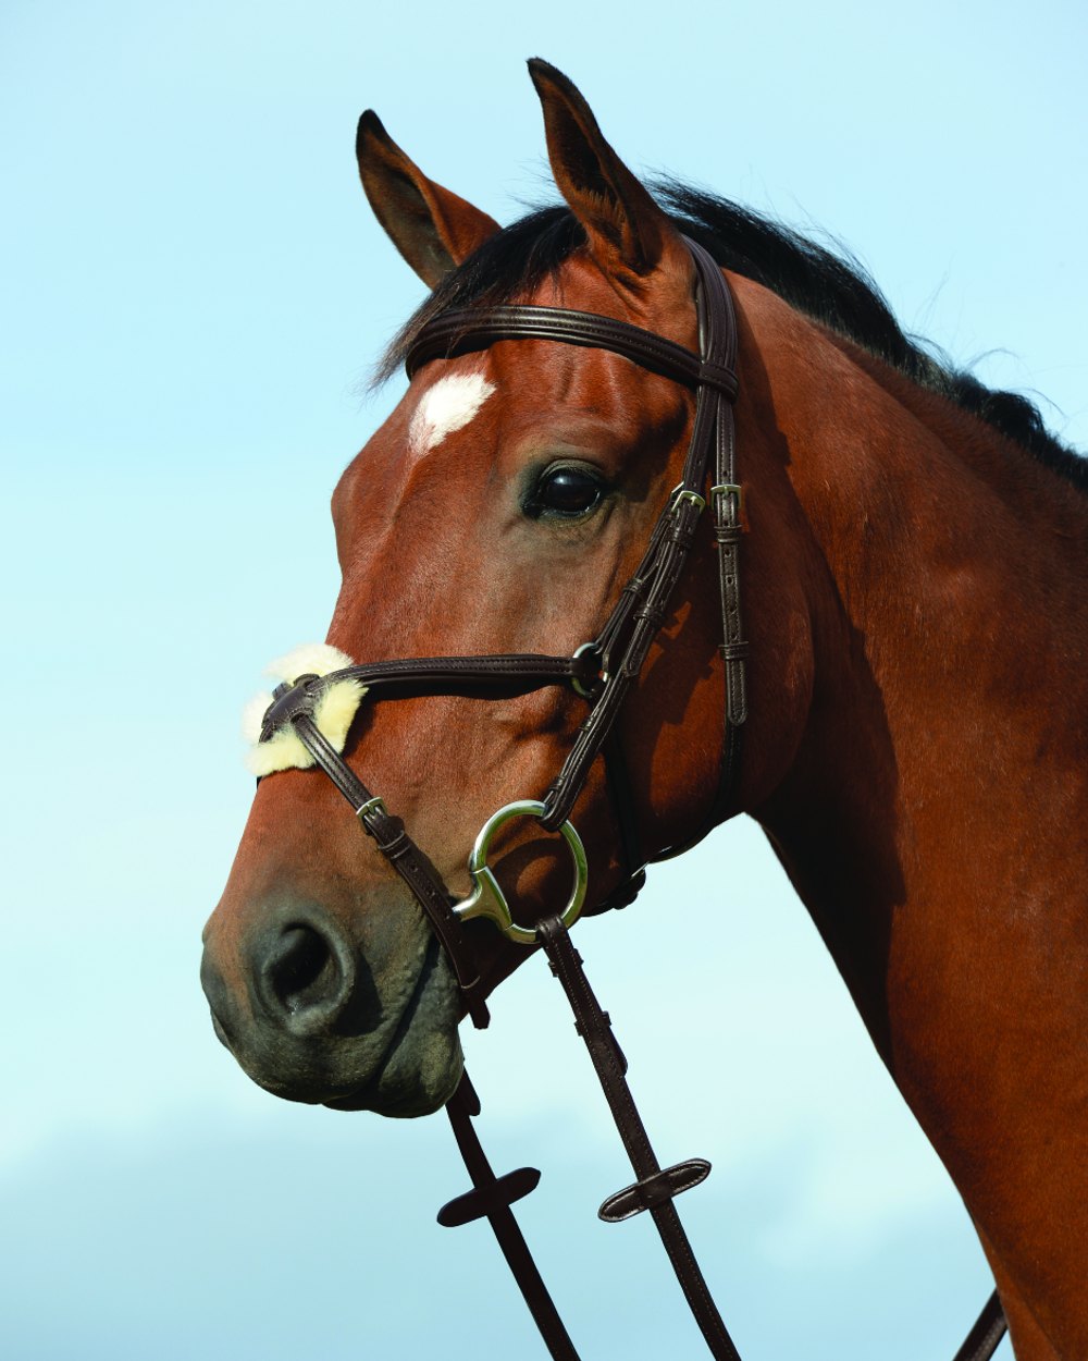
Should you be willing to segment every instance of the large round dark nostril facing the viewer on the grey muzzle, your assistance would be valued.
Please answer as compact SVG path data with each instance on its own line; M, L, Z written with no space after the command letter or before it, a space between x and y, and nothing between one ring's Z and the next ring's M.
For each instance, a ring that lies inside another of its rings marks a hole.
M265 935L257 955L257 991L288 1030L326 1029L351 996L351 951L332 932L295 921Z

